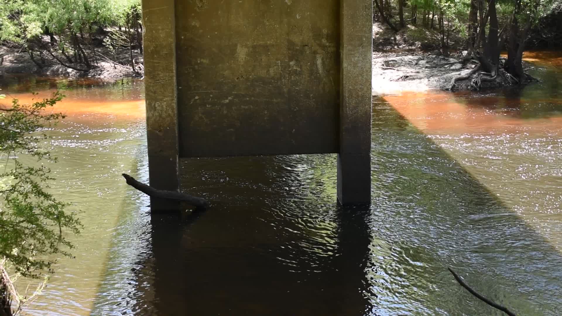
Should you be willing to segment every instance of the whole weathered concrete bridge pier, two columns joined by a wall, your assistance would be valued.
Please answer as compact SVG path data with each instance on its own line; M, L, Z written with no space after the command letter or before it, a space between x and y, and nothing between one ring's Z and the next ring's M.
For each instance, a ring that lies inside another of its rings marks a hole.
M338 201L370 204L371 0L142 4L151 186L183 157L337 153Z

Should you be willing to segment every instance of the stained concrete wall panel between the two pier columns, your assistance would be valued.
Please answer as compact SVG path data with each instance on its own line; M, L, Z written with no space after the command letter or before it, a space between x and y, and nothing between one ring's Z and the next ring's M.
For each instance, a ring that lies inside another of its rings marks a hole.
M339 151L339 0L176 6L180 156Z

